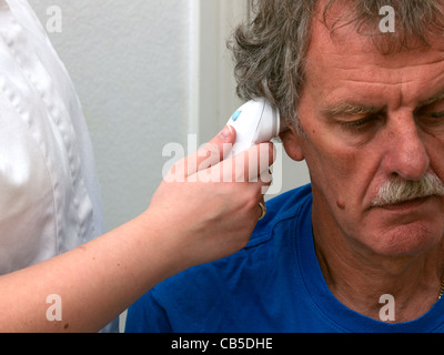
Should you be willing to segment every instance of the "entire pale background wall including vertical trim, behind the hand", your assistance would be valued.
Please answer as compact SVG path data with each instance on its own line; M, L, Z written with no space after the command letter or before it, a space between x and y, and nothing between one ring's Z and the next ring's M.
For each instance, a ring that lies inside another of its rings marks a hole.
M83 105L95 151L105 227L142 212L161 181L167 143L213 136L239 101L225 39L246 0L29 0ZM284 163L283 190L307 182Z

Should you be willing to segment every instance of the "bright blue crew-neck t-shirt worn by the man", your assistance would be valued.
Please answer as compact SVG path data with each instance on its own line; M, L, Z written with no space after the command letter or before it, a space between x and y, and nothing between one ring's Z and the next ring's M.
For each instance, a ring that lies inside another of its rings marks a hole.
M269 201L266 216L246 247L159 284L130 307L125 331L444 331L444 298L422 317L397 324L363 316L340 303L315 255L311 213L310 185Z

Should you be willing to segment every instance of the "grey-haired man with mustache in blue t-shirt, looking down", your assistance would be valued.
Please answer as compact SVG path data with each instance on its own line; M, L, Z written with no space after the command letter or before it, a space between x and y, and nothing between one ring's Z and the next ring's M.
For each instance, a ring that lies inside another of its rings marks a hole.
M256 2L233 45L239 92L280 109L311 185L270 201L241 252L147 294L128 331L444 331L443 11Z

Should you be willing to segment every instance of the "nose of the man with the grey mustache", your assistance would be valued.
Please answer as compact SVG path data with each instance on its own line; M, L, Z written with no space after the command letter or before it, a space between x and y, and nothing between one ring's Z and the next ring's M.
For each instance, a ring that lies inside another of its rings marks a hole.
M421 180L430 165L428 154L412 114L387 124L384 168L405 180Z

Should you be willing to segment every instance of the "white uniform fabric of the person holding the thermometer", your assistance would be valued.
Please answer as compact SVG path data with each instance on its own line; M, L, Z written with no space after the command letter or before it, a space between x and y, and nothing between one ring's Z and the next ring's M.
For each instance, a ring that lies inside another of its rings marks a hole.
M102 233L72 82L29 3L0 0L0 275Z

